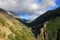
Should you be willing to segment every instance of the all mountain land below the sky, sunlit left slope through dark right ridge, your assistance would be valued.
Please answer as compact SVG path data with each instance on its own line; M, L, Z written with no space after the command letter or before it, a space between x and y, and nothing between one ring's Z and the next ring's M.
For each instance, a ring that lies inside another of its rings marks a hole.
M60 7L29 23L0 8L0 40L60 40Z

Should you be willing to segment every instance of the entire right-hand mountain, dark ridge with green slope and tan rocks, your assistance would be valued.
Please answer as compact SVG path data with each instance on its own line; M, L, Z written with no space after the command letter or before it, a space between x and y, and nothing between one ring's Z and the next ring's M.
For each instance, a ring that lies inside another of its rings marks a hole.
M29 24L38 40L60 40L57 36L60 35L60 7L45 12Z

